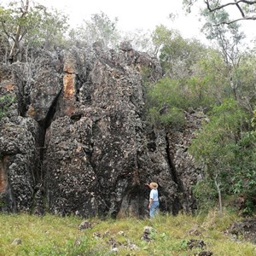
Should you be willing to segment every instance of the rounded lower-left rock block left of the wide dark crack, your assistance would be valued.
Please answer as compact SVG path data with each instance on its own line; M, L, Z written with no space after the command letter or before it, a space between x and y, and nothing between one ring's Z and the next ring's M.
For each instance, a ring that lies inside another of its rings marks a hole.
M38 123L30 118L0 120L0 192L3 210L29 210L38 180Z

